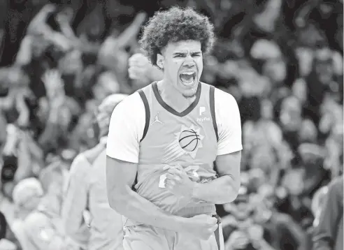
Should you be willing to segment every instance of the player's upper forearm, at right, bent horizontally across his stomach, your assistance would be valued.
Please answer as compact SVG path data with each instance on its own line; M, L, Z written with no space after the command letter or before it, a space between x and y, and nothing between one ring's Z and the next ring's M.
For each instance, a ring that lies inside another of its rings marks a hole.
M196 183L192 198L213 204L231 203L238 196L239 185L230 175L224 175L204 184Z

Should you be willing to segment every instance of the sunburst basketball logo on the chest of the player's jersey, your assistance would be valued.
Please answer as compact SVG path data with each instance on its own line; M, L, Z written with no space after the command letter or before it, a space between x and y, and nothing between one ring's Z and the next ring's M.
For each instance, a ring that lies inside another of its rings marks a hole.
M180 131L174 135L174 140L166 147L163 162L171 163L185 154L189 154L192 159L195 159L198 149L203 147L204 136L201 135L201 128L194 125L182 125Z

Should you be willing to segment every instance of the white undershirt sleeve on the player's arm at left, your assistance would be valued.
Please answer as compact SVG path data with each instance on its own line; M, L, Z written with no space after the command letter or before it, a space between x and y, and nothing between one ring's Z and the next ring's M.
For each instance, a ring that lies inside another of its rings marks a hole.
M106 155L138 163L139 144L145 127L145 107L138 93L119 103L111 115Z

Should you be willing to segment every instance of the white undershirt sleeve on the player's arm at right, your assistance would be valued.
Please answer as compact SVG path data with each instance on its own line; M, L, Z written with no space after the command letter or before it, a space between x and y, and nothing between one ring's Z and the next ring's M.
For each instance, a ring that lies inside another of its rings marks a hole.
M217 156L241 151L241 118L231 94L215 89L215 117L219 135Z

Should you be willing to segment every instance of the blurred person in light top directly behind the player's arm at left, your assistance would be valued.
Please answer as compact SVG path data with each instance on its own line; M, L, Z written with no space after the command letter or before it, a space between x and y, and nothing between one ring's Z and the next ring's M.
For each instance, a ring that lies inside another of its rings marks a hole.
M112 94L99 105L95 125L100 142L76 156L69 173L62 209L64 230L83 249L122 249L122 216L110 208L106 195L106 139L113 109L125 96ZM88 222L85 213L90 215Z

